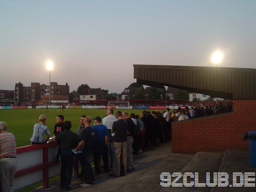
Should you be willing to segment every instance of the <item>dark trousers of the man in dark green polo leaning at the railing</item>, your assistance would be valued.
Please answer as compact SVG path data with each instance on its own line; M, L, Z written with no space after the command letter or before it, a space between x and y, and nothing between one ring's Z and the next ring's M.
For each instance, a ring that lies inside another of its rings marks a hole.
M71 184L73 168L75 164L75 154L71 149L61 149L60 152L60 183L68 187Z

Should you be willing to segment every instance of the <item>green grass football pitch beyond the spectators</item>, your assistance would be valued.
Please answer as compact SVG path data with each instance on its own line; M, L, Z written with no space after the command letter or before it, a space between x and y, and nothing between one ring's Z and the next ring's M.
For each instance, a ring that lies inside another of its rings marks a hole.
M119 109L122 112L127 111L129 115L134 113L140 116L140 112L144 109ZM117 109L114 109L114 115ZM64 121L68 120L72 122L71 130L76 132L80 125L80 117L82 115L100 116L101 118L107 115L107 109L52 109L49 108L49 112L46 109L1 109L0 121L4 121L7 124L8 132L14 134L16 139L16 146L26 146L30 144L30 138L33 135L34 124L38 123L38 117L44 114L47 117L46 126L50 130L52 137L54 125L56 124L56 116L63 115ZM93 125L94 121L92 120ZM46 138L46 137L45 137Z

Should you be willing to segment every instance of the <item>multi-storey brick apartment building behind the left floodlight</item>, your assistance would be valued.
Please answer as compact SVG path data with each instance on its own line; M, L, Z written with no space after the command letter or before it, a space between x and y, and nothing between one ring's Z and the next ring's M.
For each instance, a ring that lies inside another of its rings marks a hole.
M31 86L24 86L22 83L15 84L15 100L49 103L49 85L40 83L31 83ZM58 85L57 82L51 82L51 102L66 103L69 102L69 85Z

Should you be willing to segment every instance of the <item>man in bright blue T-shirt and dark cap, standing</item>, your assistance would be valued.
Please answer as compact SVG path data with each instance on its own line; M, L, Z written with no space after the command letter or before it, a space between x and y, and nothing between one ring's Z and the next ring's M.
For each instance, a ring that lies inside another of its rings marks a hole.
M96 173L101 173L99 160L100 154L104 163L104 172L111 171L108 168L108 128L106 125L101 124L101 118L96 116L94 119L94 126L92 126L94 132L94 140L92 145L93 161Z

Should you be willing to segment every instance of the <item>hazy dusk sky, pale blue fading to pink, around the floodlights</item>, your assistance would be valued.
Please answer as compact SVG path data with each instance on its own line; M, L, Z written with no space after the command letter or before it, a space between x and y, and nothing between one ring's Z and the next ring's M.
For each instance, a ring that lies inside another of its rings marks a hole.
M1 0L0 89L80 84L121 93L133 65L256 68L255 0Z

